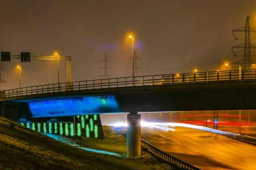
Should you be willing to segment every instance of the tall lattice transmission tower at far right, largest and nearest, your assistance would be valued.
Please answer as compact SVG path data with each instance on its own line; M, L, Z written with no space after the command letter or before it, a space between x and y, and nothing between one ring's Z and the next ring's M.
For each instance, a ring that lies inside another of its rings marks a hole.
M244 60L236 62L236 64L243 65L243 70L250 69L250 65L251 65L251 62L252 62L252 60L251 60L251 48L256 49L256 45L250 43L250 32L255 32L256 33L256 29L250 27L249 20L250 20L250 17L247 16L245 27L238 28L238 29L235 29L235 30L232 31L232 34L233 34L233 36L235 37L236 40L238 40L238 38L236 38L234 32L235 31L244 32L244 44L235 45L235 46L232 47L232 51L235 54L235 56L236 56L236 53L234 52L233 48L244 48Z

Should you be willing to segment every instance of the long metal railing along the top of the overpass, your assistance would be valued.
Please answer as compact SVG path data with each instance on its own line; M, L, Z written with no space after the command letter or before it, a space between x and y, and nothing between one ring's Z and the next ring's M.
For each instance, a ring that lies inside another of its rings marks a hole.
M221 81L248 81L256 80L256 69L235 71L209 71L184 74L163 74L138 77L120 77L111 79L97 79L79 82L65 82L49 85L38 85L25 88L15 88L0 91L0 98L24 96L31 94L53 93L59 91L74 91L99 88L118 88L144 85L166 85L207 83Z

